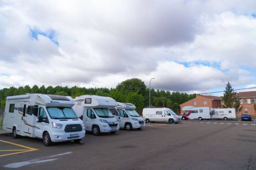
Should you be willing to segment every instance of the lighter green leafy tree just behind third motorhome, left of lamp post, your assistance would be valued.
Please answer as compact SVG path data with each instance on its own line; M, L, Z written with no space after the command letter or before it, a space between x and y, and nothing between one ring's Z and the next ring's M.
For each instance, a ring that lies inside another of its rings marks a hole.
M141 94L138 95L138 91L137 92L129 92L129 94L127 95L126 102L129 102L129 103L132 103L133 105L135 105L136 111L138 111L139 109L143 109L143 106L144 106L143 96Z

